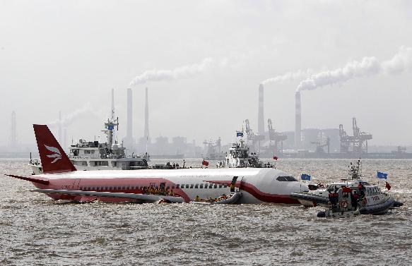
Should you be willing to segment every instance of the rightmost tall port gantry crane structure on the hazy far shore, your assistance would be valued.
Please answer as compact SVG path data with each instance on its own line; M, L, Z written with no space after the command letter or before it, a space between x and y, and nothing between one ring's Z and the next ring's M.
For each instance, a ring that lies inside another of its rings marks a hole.
M372 140L372 134L361 131L356 122L352 119L353 135L348 135L343 130L343 125L339 125L339 136L341 138L341 152L367 153L367 140ZM352 150L349 150L352 147Z

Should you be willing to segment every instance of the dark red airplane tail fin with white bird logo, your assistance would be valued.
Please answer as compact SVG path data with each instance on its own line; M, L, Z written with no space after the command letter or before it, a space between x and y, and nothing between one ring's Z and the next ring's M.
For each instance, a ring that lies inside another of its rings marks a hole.
M42 160L43 173L63 173L76 171L76 167L70 162L64 150L60 147L56 138L46 125L33 125Z

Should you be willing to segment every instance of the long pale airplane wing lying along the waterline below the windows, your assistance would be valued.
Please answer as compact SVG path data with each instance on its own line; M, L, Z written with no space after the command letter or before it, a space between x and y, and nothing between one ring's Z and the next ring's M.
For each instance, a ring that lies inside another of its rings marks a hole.
M99 192L99 191L68 191L65 189L33 189L32 192L40 193L57 193L64 195L80 195L91 196L100 198L126 198L139 200L142 203L154 203L159 200L170 200L172 203L182 203L184 199L182 197L175 196L163 196L163 195L146 195L146 194L134 194L134 193L118 193L118 192Z

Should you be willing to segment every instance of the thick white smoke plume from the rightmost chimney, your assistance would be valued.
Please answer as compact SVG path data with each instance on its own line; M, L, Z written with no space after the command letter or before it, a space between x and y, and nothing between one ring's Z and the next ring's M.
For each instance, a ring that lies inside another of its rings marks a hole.
M392 75L409 71L412 68L412 48L401 47L399 52L392 59L378 61L375 57L364 57L362 61L352 61L332 71L322 71L312 75L306 80L302 80L297 91L315 90L326 85L344 83L353 78L361 78L370 75L384 73Z

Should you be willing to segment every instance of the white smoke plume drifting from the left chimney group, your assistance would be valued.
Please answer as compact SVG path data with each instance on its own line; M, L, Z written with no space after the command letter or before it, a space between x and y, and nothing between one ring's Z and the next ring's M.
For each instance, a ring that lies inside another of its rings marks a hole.
M199 75L206 71L206 69L216 64L216 61L211 58L205 58L198 64L190 66L180 66L172 70L151 70L145 71L141 75L136 76L131 83L130 87L143 84L148 81L162 81L162 80L177 80L182 78L191 78L194 75Z

